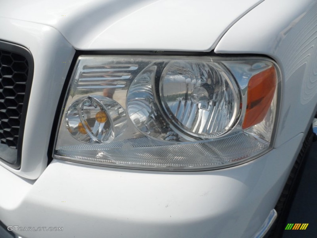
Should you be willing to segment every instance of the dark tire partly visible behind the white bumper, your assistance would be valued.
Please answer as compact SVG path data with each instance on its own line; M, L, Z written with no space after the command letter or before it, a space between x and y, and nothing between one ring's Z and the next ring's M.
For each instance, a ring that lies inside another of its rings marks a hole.
M289 210L292 206L294 196L300 183L301 175L307 159L307 154L312 145L314 136L315 134L313 133L313 129L312 127L310 127L301 147L301 151L297 156L294 166L291 170L291 173L288 175L288 179L283 188L281 196L276 203L275 210L277 212L277 218L272 225L268 235L265 236L267 238L280 238L283 235L283 231L286 227L286 219L288 217Z

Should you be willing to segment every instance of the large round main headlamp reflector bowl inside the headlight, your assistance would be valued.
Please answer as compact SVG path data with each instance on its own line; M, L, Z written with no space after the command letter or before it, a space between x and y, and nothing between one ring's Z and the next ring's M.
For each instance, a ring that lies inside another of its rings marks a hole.
M233 80L215 63L171 61L163 71L160 96L167 115L191 135L212 138L234 123L239 105Z

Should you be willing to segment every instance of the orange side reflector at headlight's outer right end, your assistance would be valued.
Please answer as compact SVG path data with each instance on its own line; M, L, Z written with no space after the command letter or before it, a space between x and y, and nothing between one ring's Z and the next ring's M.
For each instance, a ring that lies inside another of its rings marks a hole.
M276 71L273 66L250 78L243 129L263 121L274 97L276 79Z

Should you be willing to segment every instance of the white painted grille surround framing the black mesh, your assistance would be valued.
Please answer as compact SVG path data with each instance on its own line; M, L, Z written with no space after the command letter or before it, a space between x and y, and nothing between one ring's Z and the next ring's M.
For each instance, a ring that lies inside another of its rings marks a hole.
M20 176L36 179L47 166L55 110L75 50L50 26L3 17L0 17L0 39L28 48L35 65L23 136L21 169L12 169L0 163Z

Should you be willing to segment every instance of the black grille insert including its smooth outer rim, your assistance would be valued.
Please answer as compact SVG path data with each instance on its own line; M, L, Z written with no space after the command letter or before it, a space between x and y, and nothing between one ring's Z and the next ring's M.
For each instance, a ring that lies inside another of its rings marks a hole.
M14 169L21 166L33 69L27 48L0 40L0 161Z

